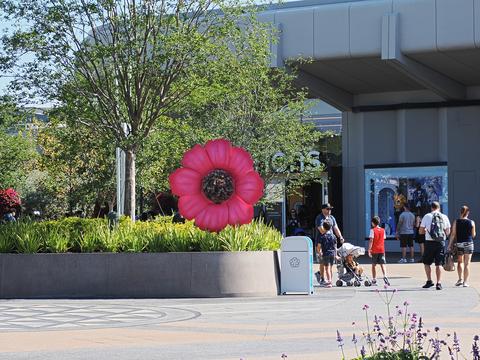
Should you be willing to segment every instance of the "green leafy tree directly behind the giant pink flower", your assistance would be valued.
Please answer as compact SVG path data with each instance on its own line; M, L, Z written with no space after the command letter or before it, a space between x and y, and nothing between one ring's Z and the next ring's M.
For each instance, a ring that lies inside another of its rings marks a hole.
M324 167L307 154L325 134L300 121L308 105L294 85L295 68L271 68L270 34L244 31L251 31L247 41L212 64L209 87L191 93L183 117L210 138L247 149L267 184L281 178L295 189L319 181Z

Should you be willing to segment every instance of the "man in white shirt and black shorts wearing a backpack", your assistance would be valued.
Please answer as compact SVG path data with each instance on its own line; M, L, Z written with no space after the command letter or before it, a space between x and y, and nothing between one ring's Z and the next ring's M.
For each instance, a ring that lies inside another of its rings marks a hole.
M442 268L444 261L445 240L450 234L450 220L445 214L440 212L440 204L433 201L431 205L432 212L426 214L420 224L420 234L425 234L425 251L423 253L423 265L427 282L422 287L428 289L432 287L432 264L435 263L436 289L442 290Z

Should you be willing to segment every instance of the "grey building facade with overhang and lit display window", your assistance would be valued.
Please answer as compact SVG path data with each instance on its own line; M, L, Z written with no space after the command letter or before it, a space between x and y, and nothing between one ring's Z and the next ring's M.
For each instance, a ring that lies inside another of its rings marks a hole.
M298 83L342 111L343 232L439 200L480 223L480 0L301 1L271 8L272 65L310 58ZM387 249L398 249L388 241Z

